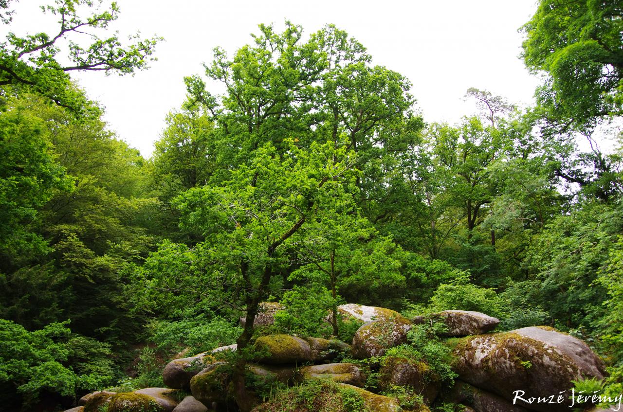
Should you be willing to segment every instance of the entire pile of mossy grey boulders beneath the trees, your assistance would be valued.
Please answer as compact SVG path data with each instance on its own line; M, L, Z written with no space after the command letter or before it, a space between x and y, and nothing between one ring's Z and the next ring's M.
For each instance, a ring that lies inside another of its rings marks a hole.
M275 306L272 308L278 310ZM366 321L354 335L352 347L338 340L317 337L260 336L254 341L257 363L246 366L245 388L240 385L235 388L232 365L224 362L228 357L221 352L237 349L236 345L229 345L169 362L164 368L163 380L174 389L145 388L128 393L97 391L80 398L79 406L68 412L99 412L102 406L106 406L108 412L207 412L236 408L266 412L299 406L310 410L308 395L313 396L318 405L326 402L331 410L340 412L346 411L346 403L351 408L353 402L358 406L363 402L369 412L430 412L428 405L434 402L435 405L452 403L455 410L463 412L563 412L569 410L572 380L604 378L604 365L599 357L571 335L549 327L483 334L494 329L498 319L479 312L444 311L432 316L442 319L449 329L444 335L451 339L445 343L452 347L452 368L460 380L453 388L442 388L439 375L429 366L429 362L430 365L435 363L421 358L421 352L426 353L426 350L404 348L404 351L397 349L386 355L389 348L406 343L407 333L412 328L409 319L389 309L355 304L340 306L340 312L346 318ZM475 335L458 337L465 334ZM371 373L378 372L376 389L390 396L364 390L366 376L357 365L328 363L343 355L361 359L382 357L369 360L366 371L369 367ZM277 383L285 386L298 383L303 388L298 390L294 385L259 405L264 389L276 387ZM397 386L406 388L406 392ZM178 403L184 395L178 389L190 390L193 396L186 396ZM516 398L517 391L521 391L519 398ZM403 403L411 402L401 396L413 392L422 396L424 404L411 404L410 409L401 409L401 401L391 397L391 393L396 393ZM521 399L543 399L552 395L556 395L556 399L560 395L563 401L551 404ZM439 396L442 399L435 401Z

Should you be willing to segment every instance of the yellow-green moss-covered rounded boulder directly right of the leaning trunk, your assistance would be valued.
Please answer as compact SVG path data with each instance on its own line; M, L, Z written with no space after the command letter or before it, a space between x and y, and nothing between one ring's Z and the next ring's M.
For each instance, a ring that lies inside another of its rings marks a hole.
M259 362L270 365L301 363L313 360L310 345L297 336L260 336L255 340L255 349L260 353Z

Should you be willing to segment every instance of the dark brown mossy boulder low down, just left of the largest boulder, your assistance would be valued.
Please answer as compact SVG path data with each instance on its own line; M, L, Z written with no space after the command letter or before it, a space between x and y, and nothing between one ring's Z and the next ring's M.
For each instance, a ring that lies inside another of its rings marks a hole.
M389 390L392 385L413 388L418 395L422 395L427 405L437 398L441 390L439 375L426 362L388 355L381 363L379 386L382 390Z

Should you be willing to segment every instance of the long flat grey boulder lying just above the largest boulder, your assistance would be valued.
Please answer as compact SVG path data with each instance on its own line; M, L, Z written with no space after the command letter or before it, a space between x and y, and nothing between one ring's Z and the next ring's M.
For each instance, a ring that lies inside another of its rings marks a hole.
M472 311L442 311L431 315L444 321L448 331L443 335L448 337L480 335L490 332L500 324L500 319ZM422 316L413 319L413 323L424 322Z

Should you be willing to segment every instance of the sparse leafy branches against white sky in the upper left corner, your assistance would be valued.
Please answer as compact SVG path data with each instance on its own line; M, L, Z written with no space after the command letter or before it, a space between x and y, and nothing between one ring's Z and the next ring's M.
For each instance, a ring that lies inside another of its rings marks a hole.
M0 3L7 9L9 2ZM161 40L140 39L123 46L118 35L100 37L98 31L108 29L117 20L119 8L115 2L105 11L87 11L101 4L93 0L55 0L44 12L59 16L55 34L44 32L19 37L9 33L0 43L0 96L14 91L28 91L45 96L57 105L75 113L87 113L93 105L87 104L82 91L73 87L69 73L74 71L103 71L105 73L133 73L146 68L153 60L154 46ZM11 24L11 15L4 12L0 19ZM66 40L66 44L62 44ZM85 40L90 44L85 45ZM59 56L62 48L67 52ZM7 88L10 87L10 88Z

